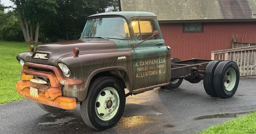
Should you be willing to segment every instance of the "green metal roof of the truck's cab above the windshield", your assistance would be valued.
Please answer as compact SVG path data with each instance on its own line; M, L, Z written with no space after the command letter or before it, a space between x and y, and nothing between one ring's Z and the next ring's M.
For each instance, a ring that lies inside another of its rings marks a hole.
M151 12L123 12L123 11L93 14L91 16L88 16L88 18L94 18L97 16L123 16L127 20L130 20L133 17L155 17L156 18L156 15Z

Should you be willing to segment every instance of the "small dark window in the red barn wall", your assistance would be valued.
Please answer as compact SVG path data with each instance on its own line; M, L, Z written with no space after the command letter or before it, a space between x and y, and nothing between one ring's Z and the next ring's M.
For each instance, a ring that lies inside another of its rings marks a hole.
M203 32L202 23L184 23L183 24L183 33L200 33Z

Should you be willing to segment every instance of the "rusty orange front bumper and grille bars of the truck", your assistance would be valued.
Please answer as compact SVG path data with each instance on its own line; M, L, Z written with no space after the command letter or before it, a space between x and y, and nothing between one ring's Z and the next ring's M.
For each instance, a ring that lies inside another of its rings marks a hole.
M54 73L28 69L28 67L39 67L41 69L53 70ZM33 79L34 76L48 78L51 87L29 81L30 79ZM83 81L79 79L64 78L60 69L57 67L36 63L25 63L22 70L22 80L16 83L16 89L20 95L42 104L66 110L76 109L75 98L62 96L61 89L63 85L60 84L62 79L65 80L65 82L68 82L66 83L67 85L81 85L83 83ZM38 89L38 98L30 95L30 87Z

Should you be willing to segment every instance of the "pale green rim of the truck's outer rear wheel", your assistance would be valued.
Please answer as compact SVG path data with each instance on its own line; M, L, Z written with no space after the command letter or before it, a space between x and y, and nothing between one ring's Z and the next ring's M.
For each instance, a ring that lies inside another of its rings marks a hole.
M229 68L224 77L224 86L227 91L232 91L236 85L236 71L233 68Z

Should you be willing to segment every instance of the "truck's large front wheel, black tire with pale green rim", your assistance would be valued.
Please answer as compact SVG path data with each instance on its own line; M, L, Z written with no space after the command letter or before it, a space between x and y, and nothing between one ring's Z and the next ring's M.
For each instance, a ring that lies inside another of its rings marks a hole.
M120 120L124 107L124 85L113 77L99 77L90 85L86 99L80 104L80 112L88 126L106 130Z

